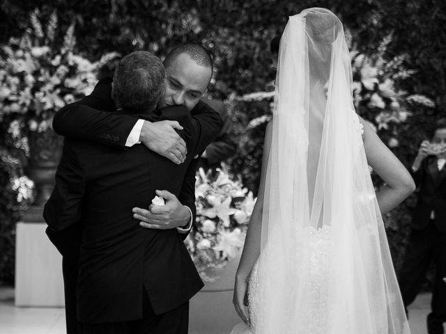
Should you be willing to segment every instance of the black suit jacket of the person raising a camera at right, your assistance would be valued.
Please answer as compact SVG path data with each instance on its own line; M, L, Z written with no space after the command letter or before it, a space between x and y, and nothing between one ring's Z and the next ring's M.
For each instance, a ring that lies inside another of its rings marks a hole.
M446 232L446 166L438 171L436 157L426 157L413 173L417 184L417 205L413 211L412 227L422 230L429 225L431 212L440 232Z

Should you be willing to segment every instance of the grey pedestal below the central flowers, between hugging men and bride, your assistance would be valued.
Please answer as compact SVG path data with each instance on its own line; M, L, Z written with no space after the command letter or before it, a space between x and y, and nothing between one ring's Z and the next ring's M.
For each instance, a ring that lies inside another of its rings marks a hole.
M206 283L190 300L189 334L229 334L242 322L232 304L238 262L240 257L231 260L218 280Z

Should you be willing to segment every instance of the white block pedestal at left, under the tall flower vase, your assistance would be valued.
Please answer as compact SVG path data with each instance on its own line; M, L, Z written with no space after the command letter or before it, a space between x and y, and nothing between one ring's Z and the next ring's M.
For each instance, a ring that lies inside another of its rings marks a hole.
M62 257L45 234L46 223L17 223L15 305L63 307Z

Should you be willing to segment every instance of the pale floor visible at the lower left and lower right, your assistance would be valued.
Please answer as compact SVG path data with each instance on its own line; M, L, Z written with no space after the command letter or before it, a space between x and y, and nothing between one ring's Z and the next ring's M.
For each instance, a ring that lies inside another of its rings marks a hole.
M426 315L429 313L430 294L420 294L409 308L412 334L426 334ZM14 290L0 287L1 334L63 334L65 333L63 308L17 308Z

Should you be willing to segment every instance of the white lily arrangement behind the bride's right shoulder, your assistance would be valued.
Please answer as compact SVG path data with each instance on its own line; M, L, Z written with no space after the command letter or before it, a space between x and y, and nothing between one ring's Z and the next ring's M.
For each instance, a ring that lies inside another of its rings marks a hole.
M351 47L353 70L353 102L357 113L371 121L380 137L390 148L399 145L399 126L412 115L414 107L433 108L434 102L419 94L408 95L397 88L415 73L405 66L407 54L394 56L387 61L387 45L392 34L380 43L376 54L366 56Z

